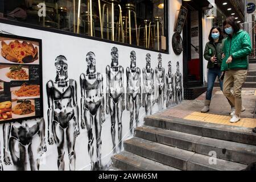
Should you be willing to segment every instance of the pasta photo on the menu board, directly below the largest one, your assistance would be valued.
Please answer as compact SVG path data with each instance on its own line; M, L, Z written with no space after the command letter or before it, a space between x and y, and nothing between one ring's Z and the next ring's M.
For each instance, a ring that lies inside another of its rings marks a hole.
M22 65L14 65L12 67L0 69L0 79L5 82L14 80L28 80L28 74L28 68L24 68Z

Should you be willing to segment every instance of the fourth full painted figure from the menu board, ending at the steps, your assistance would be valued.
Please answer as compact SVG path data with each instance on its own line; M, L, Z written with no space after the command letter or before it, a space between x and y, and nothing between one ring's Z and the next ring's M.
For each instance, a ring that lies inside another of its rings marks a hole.
M131 51L131 65L126 68L127 96L126 109L130 111L130 131L133 134L134 121L136 127L139 122L139 109L141 101L141 69L136 66L136 53Z

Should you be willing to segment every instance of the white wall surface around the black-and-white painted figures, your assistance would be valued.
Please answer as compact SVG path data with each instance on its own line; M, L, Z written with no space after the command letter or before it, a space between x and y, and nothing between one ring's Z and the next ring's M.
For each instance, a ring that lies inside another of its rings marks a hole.
M176 62L180 62L180 72L183 71L183 56L177 56L172 51L171 39L174 34L174 26L178 10L181 5L181 0L169 1L169 45L170 54L162 54L163 67L167 71L168 61L172 61L172 73L176 72ZM84 38L78 38L75 36L68 36L62 34L56 34L53 32L34 30L31 28L18 27L10 24L0 23L0 30L10 32L11 34L18 36L26 36L30 38L42 39L42 52L43 52L43 97L44 97L44 121L46 122L47 129L47 94L46 94L46 83L48 80L53 80L56 75L55 71L55 58L59 55L64 55L68 59L68 76L77 81L77 97L80 106L80 84L79 77L81 73L86 71L85 57L86 53L92 51L96 55L96 69L97 72L105 75L106 66L111 63L110 49L117 47L119 51L119 65L122 65L126 70L130 66L130 52L135 51L137 53L137 67L142 68L146 65L146 53L151 54L151 67L155 68L158 64L157 57L158 52L145 51L143 49L131 48L126 46L119 46L116 44L110 44L105 42L97 42L95 40L89 40ZM181 34L182 36L182 34ZM126 76L125 76L126 80ZM106 86L106 79L104 79L104 88ZM154 112L158 111L158 107L155 105ZM144 108L140 109L140 125L143 124ZM123 139L131 137L129 135L129 111L123 111L122 124L123 124ZM35 123L35 121L24 121L25 123ZM15 125L15 123L14 123ZM0 125L0 151L2 158L2 164L4 170L14 170L14 166L7 166L3 163L3 130ZM81 134L76 139L76 170L90 170L90 158L88 155L88 136L86 130L81 130ZM46 131L46 142L47 142L47 131ZM104 165L110 164L110 156L113 155L112 151L112 139L110 134L110 115L106 115L106 121L102 125L102 163ZM16 148L17 149L17 148ZM67 149L67 147L66 147ZM17 149L18 150L18 149ZM68 151L65 152L65 169L68 170ZM47 152L40 158L42 163L40 164L40 170L57 170L57 150L56 145L49 146L47 143Z

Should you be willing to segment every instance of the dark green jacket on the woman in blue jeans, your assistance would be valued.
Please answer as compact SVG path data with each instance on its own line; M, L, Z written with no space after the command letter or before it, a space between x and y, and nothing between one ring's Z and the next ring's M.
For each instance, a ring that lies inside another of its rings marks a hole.
M208 61L207 68L214 68L214 63L210 60L212 56L217 56L218 67L221 67L221 56L222 56L222 49L223 49L222 41L219 41L216 45L213 42L208 42L205 45L204 49L204 59Z

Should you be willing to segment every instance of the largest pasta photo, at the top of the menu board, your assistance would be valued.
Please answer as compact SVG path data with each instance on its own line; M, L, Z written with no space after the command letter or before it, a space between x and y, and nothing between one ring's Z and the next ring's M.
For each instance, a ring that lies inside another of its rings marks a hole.
M39 47L20 40L1 41L1 63L39 64Z

